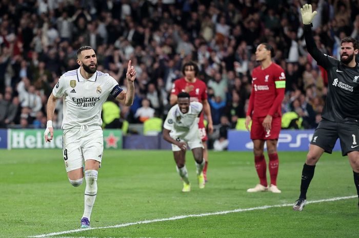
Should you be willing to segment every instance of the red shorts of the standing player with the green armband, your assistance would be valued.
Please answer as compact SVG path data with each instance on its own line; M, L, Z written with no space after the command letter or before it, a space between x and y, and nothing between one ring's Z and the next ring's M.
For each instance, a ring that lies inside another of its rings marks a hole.
M253 117L251 126L251 139L277 140L281 132L282 117L273 117L272 128L266 132L262 123L265 117Z

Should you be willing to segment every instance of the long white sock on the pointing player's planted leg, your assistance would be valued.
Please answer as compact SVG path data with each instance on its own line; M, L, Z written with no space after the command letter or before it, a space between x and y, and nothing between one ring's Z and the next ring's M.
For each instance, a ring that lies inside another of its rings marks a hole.
M97 175L98 175L98 171L95 169L89 169L85 171L85 180L86 180L85 209L82 217L88 218L89 221L91 217L92 207L96 200Z

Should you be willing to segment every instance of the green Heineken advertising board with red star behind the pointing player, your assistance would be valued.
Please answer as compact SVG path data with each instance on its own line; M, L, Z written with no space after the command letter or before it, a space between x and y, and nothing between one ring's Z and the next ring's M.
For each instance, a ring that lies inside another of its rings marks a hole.
M54 130L54 138L49 142L44 139L45 129L11 129L10 148L62 148L62 130ZM121 149L122 132L119 129L104 129L104 149Z

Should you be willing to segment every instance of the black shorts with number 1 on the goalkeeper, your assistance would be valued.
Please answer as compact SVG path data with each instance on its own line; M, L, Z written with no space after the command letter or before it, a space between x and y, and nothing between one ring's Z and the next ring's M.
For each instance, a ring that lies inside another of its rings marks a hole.
M341 142L343 156L351 151L359 151L359 123L349 124L322 119L315 129L310 144L317 145L326 153L331 154L338 138Z

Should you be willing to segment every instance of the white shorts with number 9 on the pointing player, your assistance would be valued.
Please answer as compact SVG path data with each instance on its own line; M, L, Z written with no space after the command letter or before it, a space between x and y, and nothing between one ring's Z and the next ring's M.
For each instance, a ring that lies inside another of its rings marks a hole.
M63 131L63 158L66 172L82 168L84 161L96 160L101 164L104 152L104 134L101 126L76 126Z

